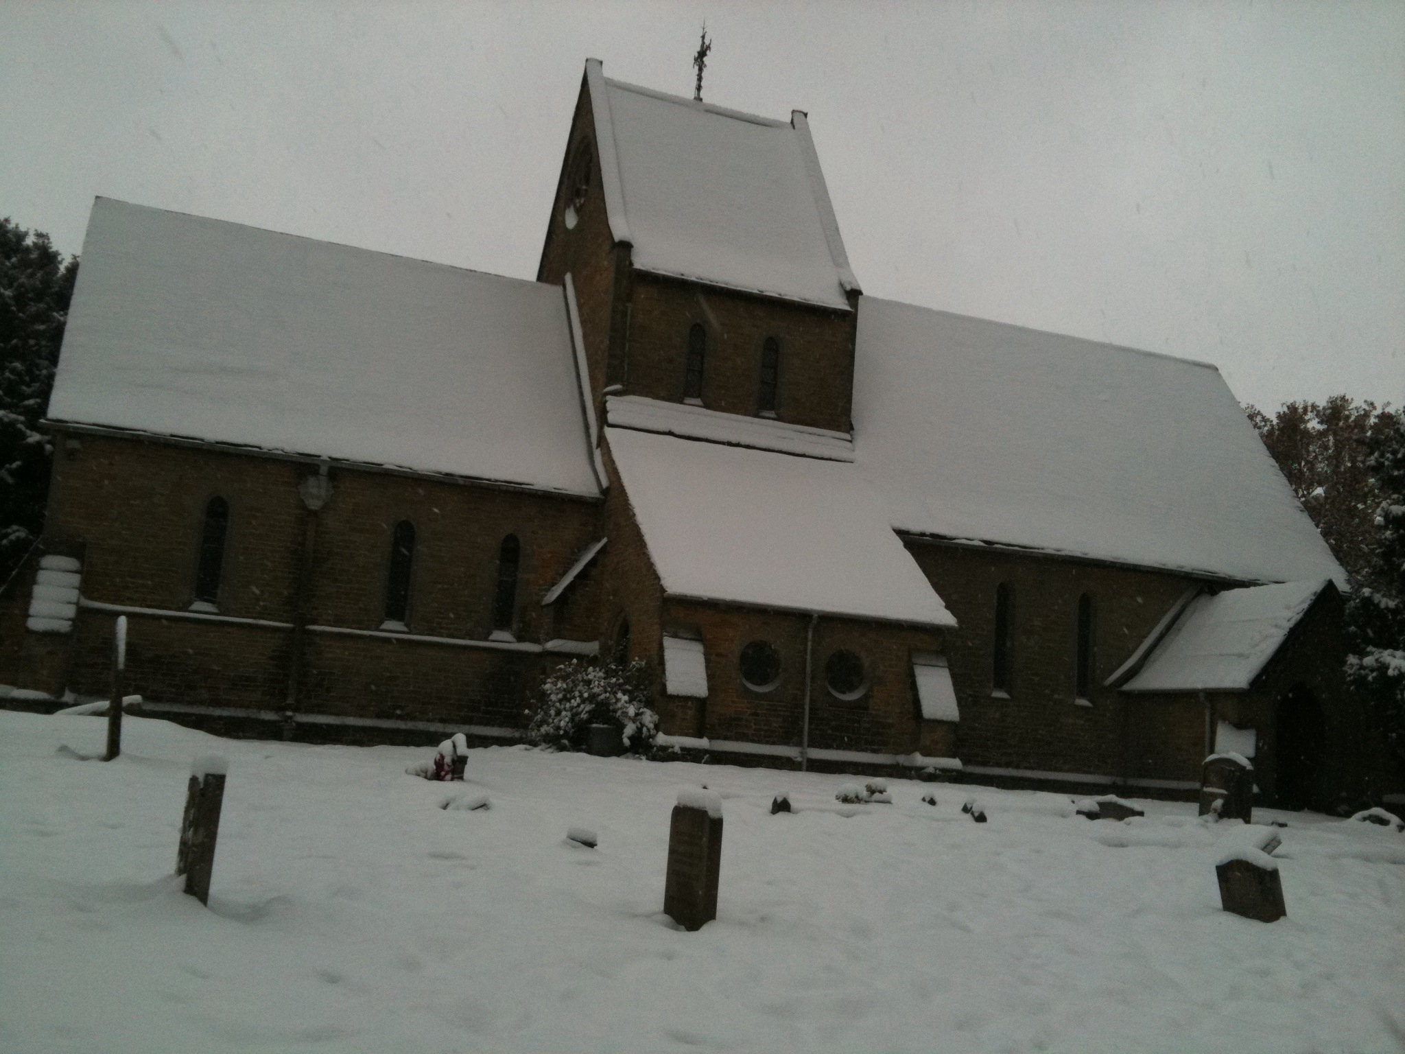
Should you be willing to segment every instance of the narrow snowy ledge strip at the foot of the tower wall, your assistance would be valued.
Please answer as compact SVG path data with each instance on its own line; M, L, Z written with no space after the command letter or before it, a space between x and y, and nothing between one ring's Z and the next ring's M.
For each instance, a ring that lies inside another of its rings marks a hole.
M660 431L826 461L854 460L854 444L847 431L787 424L769 417L743 417L738 413L648 399L642 395L611 395L606 399L606 413L610 424L617 429Z

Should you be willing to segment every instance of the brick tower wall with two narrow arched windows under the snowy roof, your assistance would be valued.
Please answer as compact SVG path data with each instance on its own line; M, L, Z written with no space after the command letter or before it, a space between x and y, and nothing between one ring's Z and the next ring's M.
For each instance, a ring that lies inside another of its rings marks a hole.
M688 330L707 330L702 405L753 416L762 344L780 343L777 417L849 431L856 312L808 308L635 271L629 309L625 389L680 402Z

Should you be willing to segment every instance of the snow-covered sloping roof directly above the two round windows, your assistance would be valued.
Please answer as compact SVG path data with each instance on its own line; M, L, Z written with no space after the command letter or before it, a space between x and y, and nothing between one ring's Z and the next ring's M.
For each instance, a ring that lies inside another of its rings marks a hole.
M607 429L666 593L955 625L853 465Z

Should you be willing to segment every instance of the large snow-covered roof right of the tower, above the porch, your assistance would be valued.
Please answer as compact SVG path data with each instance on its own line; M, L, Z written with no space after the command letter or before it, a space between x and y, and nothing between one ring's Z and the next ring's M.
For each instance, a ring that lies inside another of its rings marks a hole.
M1211 365L864 297L853 413L901 531L1346 582Z

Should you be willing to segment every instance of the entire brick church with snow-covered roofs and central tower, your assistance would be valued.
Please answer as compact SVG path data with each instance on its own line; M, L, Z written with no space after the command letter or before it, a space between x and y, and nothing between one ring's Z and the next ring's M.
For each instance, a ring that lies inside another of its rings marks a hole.
M586 63L537 281L100 198L0 597L11 704L521 736L642 659L683 756L1356 793L1346 579L1215 367L865 297L806 115Z

